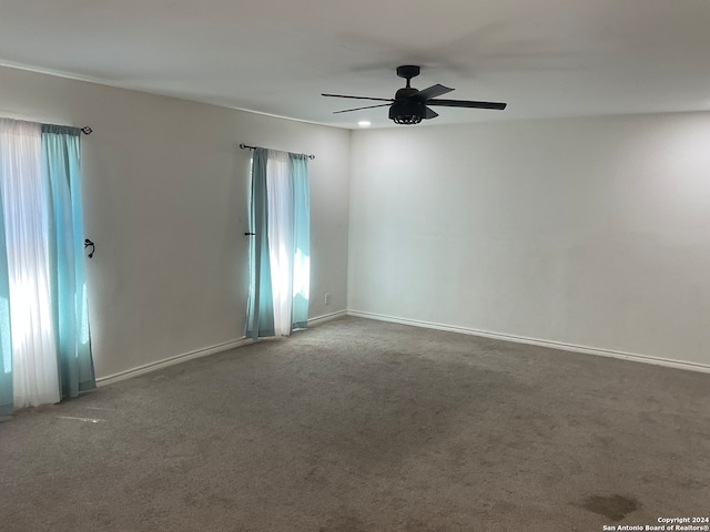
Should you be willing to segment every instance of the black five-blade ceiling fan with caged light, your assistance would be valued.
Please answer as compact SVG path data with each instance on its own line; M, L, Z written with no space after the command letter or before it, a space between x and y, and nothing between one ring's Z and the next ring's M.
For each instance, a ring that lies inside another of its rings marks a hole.
M343 111L335 111L337 113L349 113L352 111L359 111L362 109L374 109L389 106L389 119L396 124L418 124L422 120L435 119L438 113L430 110L428 105L442 105L446 108L468 108L468 109L495 109L503 111L506 109L506 103L498 102L474 102L469 100L440 100L436 96L440 96L454 89L444 86L440 84L432 85L422 91L410 85L412 78L419 75L420 68L414 64L403 64L397 66L397 75L407 80L407 85L399 89L395 93L395 98L369 98L369 96L347 96L345 94L322 94L323 96L331 98L349 98L354 100L372 100L381 103L377 105L366 105L364 108L345 109Z

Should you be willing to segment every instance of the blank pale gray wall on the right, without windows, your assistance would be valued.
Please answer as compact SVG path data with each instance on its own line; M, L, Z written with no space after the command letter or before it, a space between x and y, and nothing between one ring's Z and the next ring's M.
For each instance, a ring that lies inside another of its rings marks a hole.
M348 307L710 367L710 114L357 131Z

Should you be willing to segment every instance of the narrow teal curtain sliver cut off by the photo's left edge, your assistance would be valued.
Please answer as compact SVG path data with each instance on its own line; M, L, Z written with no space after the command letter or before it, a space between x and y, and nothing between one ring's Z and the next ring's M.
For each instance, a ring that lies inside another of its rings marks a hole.
M3 221L2 198L0 198L0 418L12 415L13 402L10 286Z

